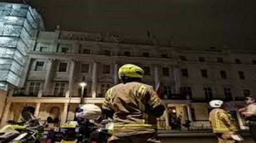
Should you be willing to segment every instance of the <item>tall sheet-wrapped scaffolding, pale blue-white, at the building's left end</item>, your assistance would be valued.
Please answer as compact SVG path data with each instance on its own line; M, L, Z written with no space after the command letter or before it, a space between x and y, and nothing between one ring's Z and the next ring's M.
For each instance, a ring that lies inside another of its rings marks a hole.
M36 30L44 30L44 24L35 9L24 4L0 3L0 89L19 85L24 56Z

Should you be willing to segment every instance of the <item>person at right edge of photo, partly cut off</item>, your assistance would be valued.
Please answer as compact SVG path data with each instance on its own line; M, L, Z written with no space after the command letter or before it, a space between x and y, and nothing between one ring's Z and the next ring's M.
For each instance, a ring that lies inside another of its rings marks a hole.
M239 109L239 112L245 116L246 123L250 128L251 137L256 142L256 104L255 97L246 97L246 107Z

